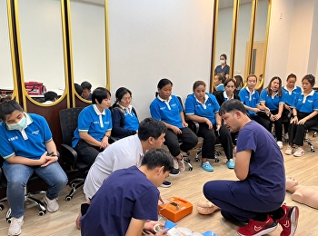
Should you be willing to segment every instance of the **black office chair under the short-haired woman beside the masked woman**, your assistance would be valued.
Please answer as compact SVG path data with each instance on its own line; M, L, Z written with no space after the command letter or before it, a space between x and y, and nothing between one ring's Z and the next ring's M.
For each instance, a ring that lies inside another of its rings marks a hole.
M78 114L82 112L83 108L84 107L75 107L64 109L60 111L59 115L62 131L61 158L65 164L71 166L72 170L82 172L85 176L91 166L78 160L77 152L75 152L72 147L72 139L74 137L75 129L77 128L77 117ZM76 178L69 183L72 190L66 195L65 201L71 201L75 192L84 185L84 181L84 178Z

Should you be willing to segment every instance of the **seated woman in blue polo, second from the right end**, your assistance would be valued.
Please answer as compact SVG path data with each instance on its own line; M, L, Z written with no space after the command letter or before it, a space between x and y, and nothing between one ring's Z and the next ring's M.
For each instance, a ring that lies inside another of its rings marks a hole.
M287 76L286 85L283 86L283 118L282 120L290 120L293 113L293 99L297 93L302 93L302 89L296 86L297 76L295 74L289 74ZM288 136L289 122L283 123L283 132L285 141L289 139Z

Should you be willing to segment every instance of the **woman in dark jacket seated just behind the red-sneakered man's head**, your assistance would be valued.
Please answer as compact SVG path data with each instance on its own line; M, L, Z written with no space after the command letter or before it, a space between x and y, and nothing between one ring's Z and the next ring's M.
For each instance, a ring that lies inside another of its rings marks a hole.
M241 75L239 75L239 76L241 76ZM222 92L222 91L214 91L214 96L216 97L217 103L219 103L220 107L221 107L221 105L224 102L226 102L229 99L240 100L240 97L239 97L238 93L235 93L236 92L235 86L236 85L235 85L235 80L234 79L227 79L224 82L224 87L225 87L224 92ZM237 134L238 134L237 132L231 133L232 142L234 144L236 144L235 139L237 137Z

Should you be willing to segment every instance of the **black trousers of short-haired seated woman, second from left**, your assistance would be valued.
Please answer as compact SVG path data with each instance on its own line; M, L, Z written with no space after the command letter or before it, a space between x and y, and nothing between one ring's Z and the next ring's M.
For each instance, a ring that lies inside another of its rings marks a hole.
M89 165L93 164L99 152L104 151L99 147L84 142L82 139L78 141L74 149L77 152L78 159Z

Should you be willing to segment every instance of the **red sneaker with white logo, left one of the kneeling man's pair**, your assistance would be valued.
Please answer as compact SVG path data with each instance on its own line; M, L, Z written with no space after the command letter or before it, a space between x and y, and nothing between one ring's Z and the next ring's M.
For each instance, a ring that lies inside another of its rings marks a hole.
M237 232L241 236L261 236L274 231L277 223L267 215L266 221L250 220L247 225L238 228Z

